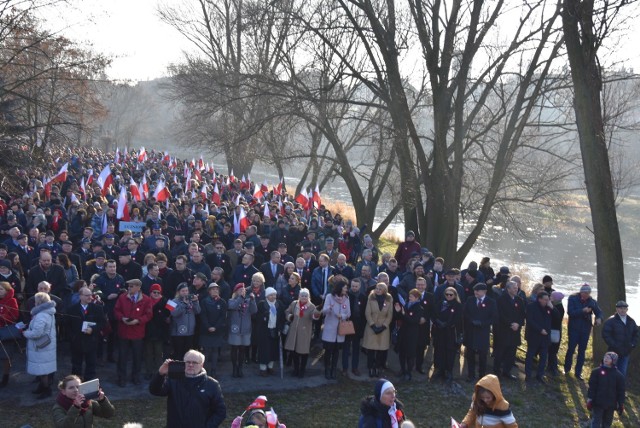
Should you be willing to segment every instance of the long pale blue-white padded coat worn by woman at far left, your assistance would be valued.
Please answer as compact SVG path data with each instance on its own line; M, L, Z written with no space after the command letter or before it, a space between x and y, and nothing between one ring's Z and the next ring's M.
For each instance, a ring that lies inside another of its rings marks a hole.
M56 313L55 302L42 303L31 310L29 328L23 332L27 340L27 373L34 376L48 375L58 370L56 364ZM36 348L37 339L49 335L51 343Z

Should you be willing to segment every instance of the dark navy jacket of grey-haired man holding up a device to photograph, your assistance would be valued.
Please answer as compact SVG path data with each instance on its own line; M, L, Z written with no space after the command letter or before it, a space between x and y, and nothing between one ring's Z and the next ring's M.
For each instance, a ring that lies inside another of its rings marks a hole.
M156 373L149 392L167 397L167 428L217 428L227 417L220 384L204 370L196 377L183 379Z

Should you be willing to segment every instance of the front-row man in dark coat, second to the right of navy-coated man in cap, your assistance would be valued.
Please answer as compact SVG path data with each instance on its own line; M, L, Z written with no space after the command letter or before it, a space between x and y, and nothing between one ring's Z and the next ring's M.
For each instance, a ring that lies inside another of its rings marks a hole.
M544 369L547 365L547 353L549 349L551 332L551 322L557 316L557 309L554 308L549 294L545 291L538 293L535 302L527 306L527 326L524 338L527 341L527 356L524 362L524 371L527 382L533 381L533 358L538 355L538 370L536 380L546 383L544 379Z

